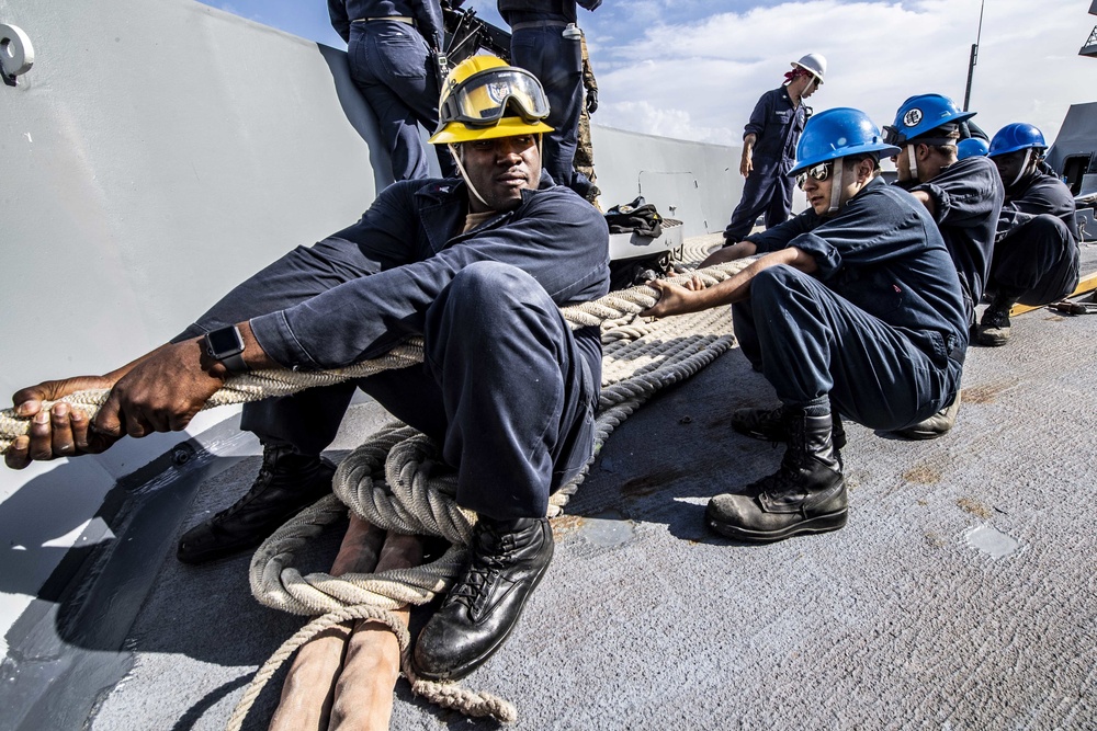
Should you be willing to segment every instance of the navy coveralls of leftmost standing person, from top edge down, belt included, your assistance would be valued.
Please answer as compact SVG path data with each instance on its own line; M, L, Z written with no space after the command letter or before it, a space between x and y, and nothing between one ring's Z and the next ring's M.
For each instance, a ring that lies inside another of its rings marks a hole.
M438 127L438 72L432 52L442 48L439 0L328 0L331 26L347 42L350 78L373 110L393 165L393 180L430 174L419 126ZM386 19L411 19L407 22ZM418 125L416 124L418 123ZM445 176L456 167L436 148Z

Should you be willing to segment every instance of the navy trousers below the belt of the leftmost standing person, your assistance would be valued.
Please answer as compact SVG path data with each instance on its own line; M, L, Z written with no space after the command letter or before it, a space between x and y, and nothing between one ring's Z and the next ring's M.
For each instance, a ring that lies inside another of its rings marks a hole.
M373 110L393 165L393 180L428 178L419 125L438 127L438 76L422 36L405 23L351 23L350 77ZM434 149L443 178L456 175L445 146Z

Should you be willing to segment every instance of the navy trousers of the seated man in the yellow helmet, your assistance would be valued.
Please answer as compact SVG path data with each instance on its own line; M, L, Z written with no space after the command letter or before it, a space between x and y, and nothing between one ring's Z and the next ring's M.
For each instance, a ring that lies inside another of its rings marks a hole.
M543 516L548 494L590 457L601 377L559 308L522 270L479 262L436 299L425 330L422 365L247 404L241 427L318 454L358 387L442 445L461 506Z

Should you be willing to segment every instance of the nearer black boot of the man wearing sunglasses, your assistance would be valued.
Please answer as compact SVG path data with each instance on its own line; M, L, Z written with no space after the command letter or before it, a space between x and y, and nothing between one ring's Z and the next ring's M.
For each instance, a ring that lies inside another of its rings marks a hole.
M745 494L709 501L709 526L750 542L825 533L846 525L846 482L830 438L830 415L785 409L789 447L773 475L747 486Z

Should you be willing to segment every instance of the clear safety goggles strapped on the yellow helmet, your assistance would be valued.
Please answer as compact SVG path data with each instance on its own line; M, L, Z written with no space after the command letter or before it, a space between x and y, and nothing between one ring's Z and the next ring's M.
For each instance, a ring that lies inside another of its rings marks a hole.
M548 116L548 100L536 78L513 67L486 69L457 83L438 116L442 124L490 127L506 115L508 106L529 123Z

